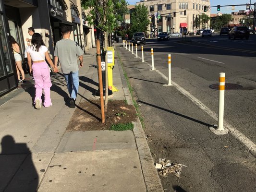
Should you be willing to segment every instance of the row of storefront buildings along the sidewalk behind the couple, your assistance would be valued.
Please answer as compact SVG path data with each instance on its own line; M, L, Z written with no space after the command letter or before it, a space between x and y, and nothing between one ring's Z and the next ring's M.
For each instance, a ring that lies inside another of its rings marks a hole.
M93 26L85 21L87 12L80 0L0 0L0 96L17 87L16 66L8 36L20 45L22 62L28 28L43 37L53 59L55 44L62 38L61 26L73 27L71 39L84 50L95 44Z

